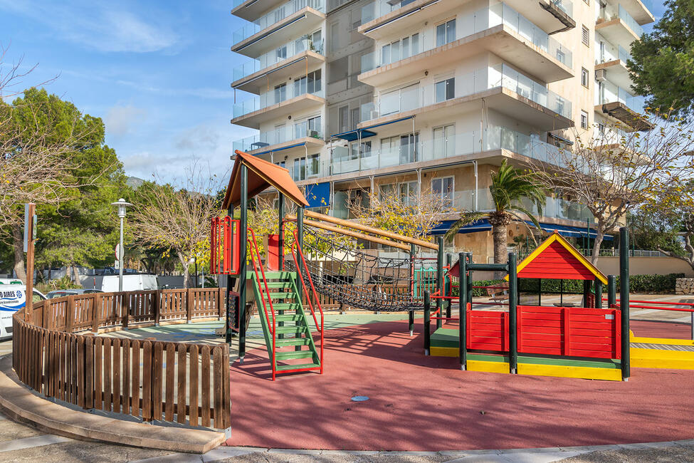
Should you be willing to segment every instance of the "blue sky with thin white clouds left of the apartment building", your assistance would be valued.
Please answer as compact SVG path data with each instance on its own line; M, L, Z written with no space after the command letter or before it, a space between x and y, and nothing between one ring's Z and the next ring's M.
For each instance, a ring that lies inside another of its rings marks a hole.
M657 21L662 0L644 3ZM22 88L57 76L46 89L104 120L127 175L180 182L197 163L226 176L231 142L255 132L229 123L231 70L248 60L230 51L245 23L230 11L231 0L0 0L2 66L37 65Z

